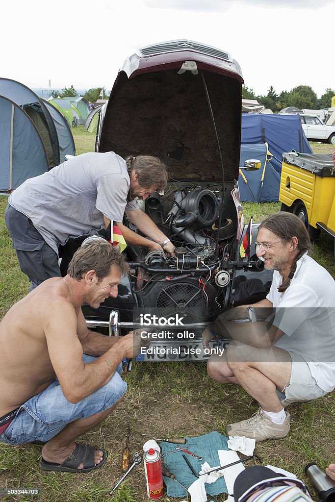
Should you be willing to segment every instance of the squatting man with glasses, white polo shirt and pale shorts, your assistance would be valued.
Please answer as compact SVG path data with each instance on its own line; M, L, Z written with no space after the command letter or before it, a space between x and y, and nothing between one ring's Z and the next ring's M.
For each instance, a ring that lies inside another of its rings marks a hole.
M241 385L260 404L256 415L226 427L230 436L283 438L290 430L285 406L335 388L335 281L307 255L309 249L308 232L297 216L267 217L256 250L265 268L274 270L270 292L215 321L214 331L233 341L221 357L210 357L208 374ZM248 307L254 307L258 321L235 322L248 318ZM204 345L212 338L207 328Z

